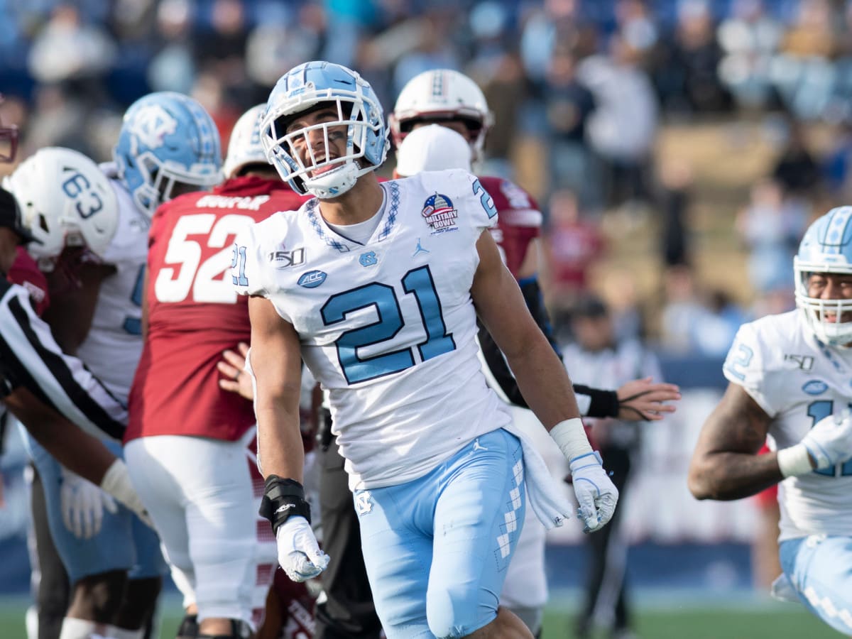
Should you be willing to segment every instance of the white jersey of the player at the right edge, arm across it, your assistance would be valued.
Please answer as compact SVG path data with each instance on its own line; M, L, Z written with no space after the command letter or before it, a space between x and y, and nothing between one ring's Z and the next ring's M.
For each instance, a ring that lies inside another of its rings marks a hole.
M769 446L793 446L815 423L852 406L852 350L818 342L801 311L742 325L724 366L773 417ZM852 530L852 461L779 485L780 540Z

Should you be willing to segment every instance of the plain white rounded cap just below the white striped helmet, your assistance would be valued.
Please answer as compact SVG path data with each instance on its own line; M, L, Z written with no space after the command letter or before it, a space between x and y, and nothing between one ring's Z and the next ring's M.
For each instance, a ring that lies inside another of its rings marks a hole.
M396 150L396 173L414 176L421 171L463 169L470 172L468 141L440 124L419 127L406 135Z

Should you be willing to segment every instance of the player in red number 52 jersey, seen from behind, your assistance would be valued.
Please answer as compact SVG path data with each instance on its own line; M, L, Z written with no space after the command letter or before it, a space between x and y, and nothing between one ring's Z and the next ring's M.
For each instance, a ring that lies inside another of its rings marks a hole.
M233 291L228 273L237 259L234 235L302 203L263 156L256 133L262 110L250 109L234 126L226 181L160 206L149 235L145 346L130 392L125 455L184 596L179 636L253 634L276 561L272 539L270 566L262 567L257 538L260 500L246 463L254 412L220 388L216 371L222 352L250 337L246 298ZM304 259L297 250L281 253L282 268Z

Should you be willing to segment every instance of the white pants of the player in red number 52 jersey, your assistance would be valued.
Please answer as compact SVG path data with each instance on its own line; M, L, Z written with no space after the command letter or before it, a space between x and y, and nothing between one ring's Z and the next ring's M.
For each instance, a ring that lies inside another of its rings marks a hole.
M257 501L245 441L157 435L130 441L124 456L184 607L197 604L199 621L254 626Z

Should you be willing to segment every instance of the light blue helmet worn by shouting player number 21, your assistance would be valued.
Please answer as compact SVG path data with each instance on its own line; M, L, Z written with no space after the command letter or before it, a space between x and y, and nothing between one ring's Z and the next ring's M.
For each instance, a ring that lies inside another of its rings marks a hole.
M337 105L337 120L288 135L287 124L294 116L325 102ZM343 125L347 127L346 153L325 158L329 129ZM321 151L308 144L308 134L314 130L322 130L325 136ZM320 199L343 195L360 176L381 166L388 155L388 133L382 105L370 84L345 66L324 61L306 62L282 76L269 95L261 123L261 143L281 179L296 193ZM296 141L307 147L307 161L296 153Z

